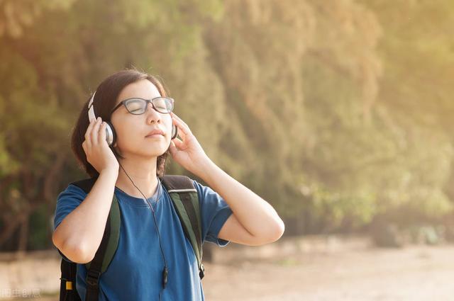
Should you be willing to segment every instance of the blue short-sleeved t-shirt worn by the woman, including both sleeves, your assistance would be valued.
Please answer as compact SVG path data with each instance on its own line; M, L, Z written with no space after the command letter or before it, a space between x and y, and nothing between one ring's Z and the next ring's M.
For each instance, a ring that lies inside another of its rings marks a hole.
M207 241L226 246L229 241L219 239L218 233L232 214L231 208L211 188L192 181L201 205L202 243ZM86 195L81 188L72 184L58 195L54 229L66 215L77 208ZM99 301L160 300L160 293L162 301L204 300L196 256L191 243L184 236L179 217L165 187L160 184L155 195L148 198L155 210L169 271L164 290L164 259L150 205L142 198L128 195L117 187L115 195L121 211L120 239L109 268L99 280ZM82 300L87 287L86 276L87 268L78 263L76 289Z

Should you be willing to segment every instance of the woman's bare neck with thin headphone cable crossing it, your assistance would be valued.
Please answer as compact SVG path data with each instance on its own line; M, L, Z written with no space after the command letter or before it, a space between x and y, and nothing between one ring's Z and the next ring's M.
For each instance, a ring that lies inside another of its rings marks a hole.
M150 198L155 194L158 183L156 176L157 157L140 160L120 159L119 162L124 171L120 166L115 183L116 187L135 198L143 198L143 195L145 195L145 198ZM125 174L125 171L128 175ZM135 188L128 176L143 195Z

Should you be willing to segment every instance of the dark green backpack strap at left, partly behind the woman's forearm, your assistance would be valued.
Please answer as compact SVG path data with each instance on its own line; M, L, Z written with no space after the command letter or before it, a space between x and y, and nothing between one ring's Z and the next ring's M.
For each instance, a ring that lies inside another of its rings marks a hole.
M85 193L89 193L92 190L94 183L97 178L87 178L82 181L73 182L74 186L82 188ZM114 193L112 198L111 209L109 216L107 217L106 227L104 228L104 234L101 239L101 244L96 250L94 259L89 263L85 263L87 267L87 295L85 296L86 301L98 300L99 292L99 277L101 273L104 273L112 259L114 258L116 249L118 247L118 240L120 238L120 226L121 226L121 212L118 200Z

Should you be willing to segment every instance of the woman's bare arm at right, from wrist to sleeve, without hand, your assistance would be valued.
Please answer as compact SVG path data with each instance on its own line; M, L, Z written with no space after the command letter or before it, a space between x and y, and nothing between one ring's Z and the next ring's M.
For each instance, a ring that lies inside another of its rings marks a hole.
M206 159L196 175L211 186L233 211L218 237L238 244L258 246L275 242L284 233L284 222L272 206Z

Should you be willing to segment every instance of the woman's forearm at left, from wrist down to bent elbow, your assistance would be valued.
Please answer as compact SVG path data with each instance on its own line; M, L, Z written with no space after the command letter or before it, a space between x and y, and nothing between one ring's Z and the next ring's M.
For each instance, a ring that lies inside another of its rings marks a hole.
M52 242L68 259L90 261L101 244L118 173L101 171L82 203L55 229Z

